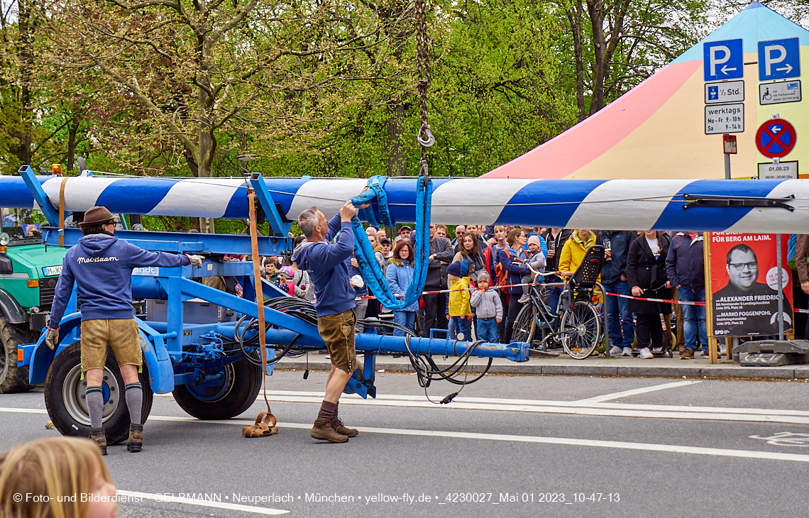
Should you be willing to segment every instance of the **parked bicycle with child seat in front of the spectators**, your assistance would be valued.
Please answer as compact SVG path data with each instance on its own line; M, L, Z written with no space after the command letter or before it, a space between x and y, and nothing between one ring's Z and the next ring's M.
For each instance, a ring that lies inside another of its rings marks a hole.
M540 346L533 348L540 352L550 346L561 344L567 355L574 359L585 359L599 345L602 338L601 315L595 308L593 299L596 281L604 265L604 247L594 244L587 248L582 263L566 282L540 284L539 276L534 277L528 289L530 302L519 310L514 322L512 340L534 343L537 329L547 329ZM548 306L548 288L563 288L556 312ZM564 312L559 316L561 309Z

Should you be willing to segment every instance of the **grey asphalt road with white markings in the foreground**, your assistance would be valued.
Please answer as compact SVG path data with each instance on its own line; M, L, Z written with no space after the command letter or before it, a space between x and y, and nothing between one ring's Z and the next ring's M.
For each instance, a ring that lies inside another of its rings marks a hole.
M240 429L263 399L200 422L155 397L144 451L105 457L121 516L809 516L803 381L486 376L433 405L381 373L376 400L341 401L360 434L324 444L309 428L326 373L301 374L268 378L281 431L260 439ZM42 393L0 407L0 449L58 433Z

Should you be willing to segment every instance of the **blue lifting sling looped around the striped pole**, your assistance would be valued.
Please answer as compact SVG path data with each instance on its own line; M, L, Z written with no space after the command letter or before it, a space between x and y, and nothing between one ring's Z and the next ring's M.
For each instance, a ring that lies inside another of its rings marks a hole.
M373 212L371 209L375 206L379 214L379 220L383 221L383 224L392 225L390 211L388 210L388 195L383 189L385 180L387 180L387 178L384 176L372 177L368 180L368 187L370 189L352 198L351 202L354 203L354 206L371 203L372 206L367 207L366 214ZM394 297L390 287L388 287L388 279L385 278L382 269L379 268L379 263L376 262L374 248L371 248L371 242L368 240L368 235L362 227L362 222L357 216L354 216L354 219L351 220L354 227L354 256L357 259L358 270L360 274L362 274L366 286L385 308L397 311L407 308L418 300L421 296L421 291L424 289L430 263L430 214L432 197L432 180L430 180L429 176L419 176L416 190L416 231L418 233L414 239L414 282L411 282L408 286L407 292L404 294L404 299Z

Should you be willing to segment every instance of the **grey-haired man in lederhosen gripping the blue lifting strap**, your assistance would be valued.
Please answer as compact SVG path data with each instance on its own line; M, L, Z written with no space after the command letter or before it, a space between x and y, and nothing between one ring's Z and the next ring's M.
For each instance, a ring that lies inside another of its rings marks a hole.
M356 213L354 205L345 202L340 212L326 223L326 217L317 207L304 210L298 216L298 224L306 241L292 254L292 261L301 270L309 271L309 278L315 286L317 330L332 359L326 394L309 435L332 443L345 443L349 437L357 435L357 430L344 427L337 417L337 405L345 384L357 370L354 349L356 291L351 286L346 261L354 253L351 218ZM340 232L340 237L332 243L337 232Z

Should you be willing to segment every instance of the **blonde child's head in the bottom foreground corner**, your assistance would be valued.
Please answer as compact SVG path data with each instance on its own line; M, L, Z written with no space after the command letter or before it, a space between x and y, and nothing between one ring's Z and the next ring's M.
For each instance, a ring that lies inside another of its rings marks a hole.
M39 439L0 452L3 518L112 518L115 491L98 446L87 439Z

